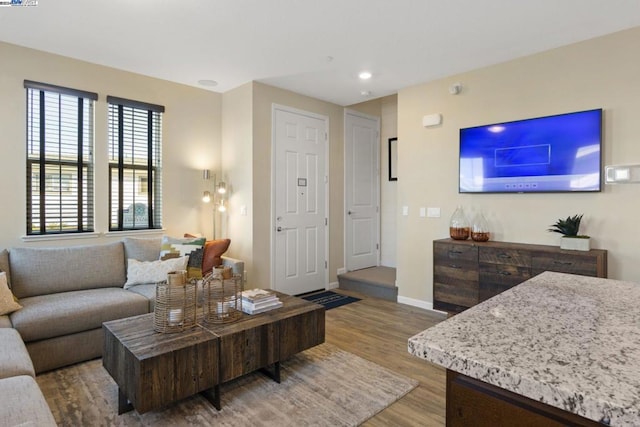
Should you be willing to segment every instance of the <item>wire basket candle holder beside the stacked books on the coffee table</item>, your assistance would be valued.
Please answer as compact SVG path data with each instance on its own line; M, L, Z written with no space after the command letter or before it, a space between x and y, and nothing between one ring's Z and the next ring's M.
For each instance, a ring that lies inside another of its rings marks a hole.
M208 274L202 279L203 314L207 323L235 322L242 317L242 276L223 279Z

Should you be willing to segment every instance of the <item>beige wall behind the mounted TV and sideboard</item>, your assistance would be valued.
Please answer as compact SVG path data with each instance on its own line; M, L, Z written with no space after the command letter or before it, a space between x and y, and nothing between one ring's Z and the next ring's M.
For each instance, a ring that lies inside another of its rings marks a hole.
M403 89L398 95L398 285L401 301L432 299L432 241L448 237L456 205L482 210L494 239L558 245L546 230L556 219L584 213L581 232L609 250L609 277L640 281L640 185L607 185L597 194L458 194L458 131L462 127L604 109L604 164L640 163L640 29ZM460 82L459 95L448 87ZM442 113L443 124L422 127ZM419 218L419 206L441 218ZM428 305L428 304L427 304Z

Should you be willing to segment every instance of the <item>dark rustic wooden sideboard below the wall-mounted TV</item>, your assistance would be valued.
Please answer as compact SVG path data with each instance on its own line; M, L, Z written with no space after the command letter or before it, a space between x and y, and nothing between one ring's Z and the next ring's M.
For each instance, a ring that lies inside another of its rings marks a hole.
M433 242L433 308L459 313L543 271L607 277L607 251L441 239Z

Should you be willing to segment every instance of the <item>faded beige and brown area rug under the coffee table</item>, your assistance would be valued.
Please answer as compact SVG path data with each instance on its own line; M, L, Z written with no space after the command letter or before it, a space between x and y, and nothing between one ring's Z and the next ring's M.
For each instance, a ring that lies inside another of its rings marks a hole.
M62 426L356 426L418 382L321 344L281 364L282 382L254 373L222 386L222 410L203 397L117 415L118 389L92 360L36 379Z

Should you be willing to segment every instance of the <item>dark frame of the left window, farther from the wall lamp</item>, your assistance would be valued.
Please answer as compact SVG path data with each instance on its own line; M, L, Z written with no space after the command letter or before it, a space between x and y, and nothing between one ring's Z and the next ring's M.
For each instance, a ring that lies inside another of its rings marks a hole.
M95 170L95 159L93 156L95 143L94 102L97 101L98 94L31 80L24 80L23 86L26 89L26 234L27 236L52 236L93 233L95 229L95 212L93 206L95 189L93 176ZM37 101L34 99L35 96L32 91L38 93ZM52 95L58 96L59 107L57 111L57 121L53 119L48 121L48 118L50 118L53 113L47 110L46 107L48 97ZM61 106L63 105L64 96L77 98L77 115L75 121L63 120ZM36 108L37 115L35 113ZM85 117L85 114L88 117ZM38 120L37 135L33 132L36 118ZM88 120L85 120L85 118ZM52 124L54 125L53 129ZM77 145L75 151L72 152L72 155L75 155L75 160L71 160L71 158L62 159L60 153L63 151L64 144L61 137L63 128L74 124L77 125L75 129ZM51 141L48 140L47 134L52 130L58 133L57 159L55 156L52 156L53 153L51 150L48 151ZM35 144L38 144L37 157L31 154ZM58 168L57 175L47 171L48 167L51 166ZM63 168L69 167L75 168L76 170L74 183L77 189L77 199L75 204L67 205L66 203L62 203L62 186L64 185L62 178L67 175L67 172L63 170ZM37 189L36 185L34 185L34 169L38 171ZM49 180L52 175L57 178L58 190L49 186ZM84 194L85 184L86 198ZM34 200L34 191L38 193L37 201ZM56 191L59 196L58 204L48 203L47 195L55 193ZM34 204L37 205L37 209ZM56 215L48 214L48 211L51 211L48 207L50 208L51 205L56 207ZM77 221L75 228L64 227L65 215L63 211L69 208L71 211L75 211L75 220ZM36 211L38 212L38 218L34 217L34 212ZM48 226L51 219L59 222L56 229Z

